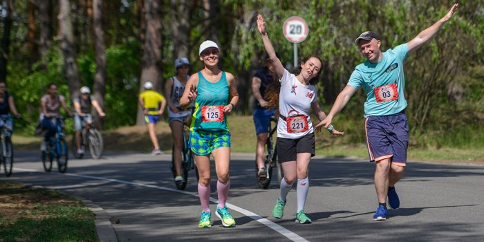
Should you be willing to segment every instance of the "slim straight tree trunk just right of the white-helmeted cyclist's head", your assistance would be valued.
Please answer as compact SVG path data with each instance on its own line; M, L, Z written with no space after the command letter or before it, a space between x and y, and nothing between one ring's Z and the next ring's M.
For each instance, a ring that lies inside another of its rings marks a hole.
M96 73L94 75L94 97L104 110L104 94L106 93L106 46L102 28L102 0L93 0L93 27ZM97 120L101 121L101 120ZM97 122L102 128L102 122Z

